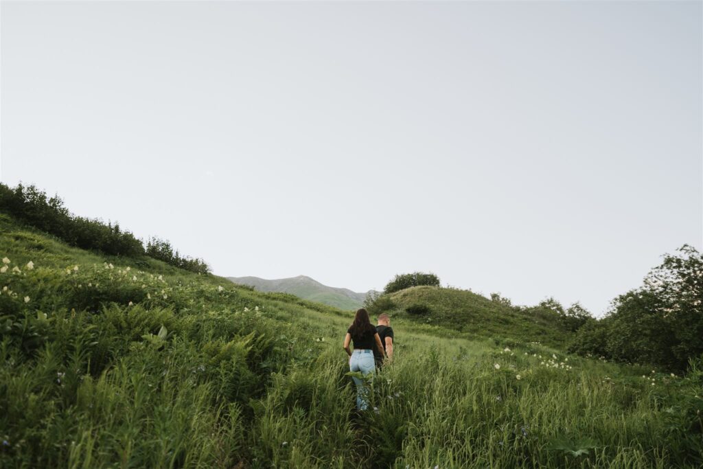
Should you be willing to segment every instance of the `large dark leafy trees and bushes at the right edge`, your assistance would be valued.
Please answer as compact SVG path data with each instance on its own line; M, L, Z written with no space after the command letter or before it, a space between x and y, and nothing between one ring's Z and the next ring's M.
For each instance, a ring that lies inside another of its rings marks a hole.
M574 352L683 371L703 354L703 257L689 245L664 256L643 286L579 330Z

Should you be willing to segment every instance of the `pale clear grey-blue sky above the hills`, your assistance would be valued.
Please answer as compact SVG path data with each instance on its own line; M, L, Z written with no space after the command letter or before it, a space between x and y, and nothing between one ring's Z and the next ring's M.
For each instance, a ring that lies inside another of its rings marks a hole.
M703 248L703 8L11 2L0 180L215 274L601 315Z

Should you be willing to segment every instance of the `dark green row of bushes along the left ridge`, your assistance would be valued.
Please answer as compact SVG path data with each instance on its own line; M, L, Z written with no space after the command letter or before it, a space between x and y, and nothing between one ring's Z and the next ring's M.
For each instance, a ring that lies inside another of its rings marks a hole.
M48 197L34 185L15 188L0 183L0 211L11 214L34 228L46 231L77 248L98 250L109 255L138 257L148 255L180 269L207 274L209 266L202 259L183 257L165 240L153 238L145 246L120 224L105 224L71 214L58 195Z

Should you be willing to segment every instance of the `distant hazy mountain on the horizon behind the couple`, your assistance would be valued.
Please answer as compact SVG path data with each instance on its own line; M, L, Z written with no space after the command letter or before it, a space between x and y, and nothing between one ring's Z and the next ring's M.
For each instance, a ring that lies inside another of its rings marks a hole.
M266 280L259 277L227 277L240 285L250 285L260 292L290 293L304 300L329 304L340 309L358 309L363 305L366 293L356 293L348 288L328 287L314 278L299 275L291 278Z

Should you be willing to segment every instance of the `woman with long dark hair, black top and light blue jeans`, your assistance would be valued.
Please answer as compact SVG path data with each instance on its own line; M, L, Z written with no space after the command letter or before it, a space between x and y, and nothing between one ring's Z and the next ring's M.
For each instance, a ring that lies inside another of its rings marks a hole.
M354 353L349 349L349 342L354 342ZM361 308L356 311L354 322L347 329L347 335L344 336L343 347L344 352L349 355L349 371L361 371L362 374L368 375L374 370L373 347L376 347L383 355L383 345L378 333L376 333L376 328L368 320L366 309ZM365 411L368 409L368 390L361 378L352 376L352 379L356 383L356 409Z

